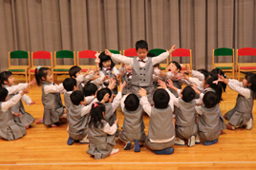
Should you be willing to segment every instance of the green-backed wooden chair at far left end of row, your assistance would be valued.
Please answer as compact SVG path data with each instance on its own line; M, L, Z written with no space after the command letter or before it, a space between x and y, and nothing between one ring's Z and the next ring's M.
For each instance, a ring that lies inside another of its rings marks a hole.
M28 59L29 66L13 66L11 65L11 59ZM26 83L28 82L28 70L31 67L31 58L30 52L24 50L14 50L9 52L9 68L8 70L12 72L12 74L25 74Z

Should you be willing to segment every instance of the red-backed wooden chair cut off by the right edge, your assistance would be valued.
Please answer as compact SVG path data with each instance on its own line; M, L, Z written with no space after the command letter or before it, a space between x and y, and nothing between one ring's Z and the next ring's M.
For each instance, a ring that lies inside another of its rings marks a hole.
M238 57L242 56L256 56L256 48L253 47L242 47L237 49L237 78L240 79L241 71L256 71L256 63L239 63Z

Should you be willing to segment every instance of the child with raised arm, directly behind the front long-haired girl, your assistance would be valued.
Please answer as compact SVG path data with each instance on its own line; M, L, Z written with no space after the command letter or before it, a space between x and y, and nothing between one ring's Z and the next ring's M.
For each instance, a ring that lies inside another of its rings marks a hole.
M112 95L111 89L109 89L107 87L101 88L96 93L97 101L102 101L104 96L107 93L109 94L109 100L104 104L105 107L106 107L106 112L105 112L104 119L110 125L113 125L116 122L116 120L117 120L117 112L116 112L116 110L117 110L117 106L120 103L122 90L123 90L125 85L126 85L125 82L120 84L119 92L117 93L117 96L115 97L114 100L113 100L113 95ZM113 101L113 103L112 103L112 101ZM118 136L118 132L117 132L117 136Z

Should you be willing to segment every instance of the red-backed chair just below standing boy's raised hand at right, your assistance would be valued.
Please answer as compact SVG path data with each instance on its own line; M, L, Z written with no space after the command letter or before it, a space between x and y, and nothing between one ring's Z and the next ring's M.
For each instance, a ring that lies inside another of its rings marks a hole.
M185 69L185 65L189 66L192 69L192 52L191 49L186 48L177 48L171 55L170 61L172 61L173 57L189 57L190 63L180 63L181 70Z

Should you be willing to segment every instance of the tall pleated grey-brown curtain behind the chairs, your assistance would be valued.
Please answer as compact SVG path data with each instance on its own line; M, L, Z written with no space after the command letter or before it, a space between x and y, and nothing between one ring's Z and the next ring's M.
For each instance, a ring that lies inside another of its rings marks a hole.
M144 39L149 48L169 49L176 44L192 49L193 68L211 69L214 48L256 47L254 0L2 0L0 22L1 71L8 68L8 52L18 49L53 53L68 49L77 57L80 50L123 50ZM239 60L256 62L255 56ZM12 64L27 62L20 59Z

